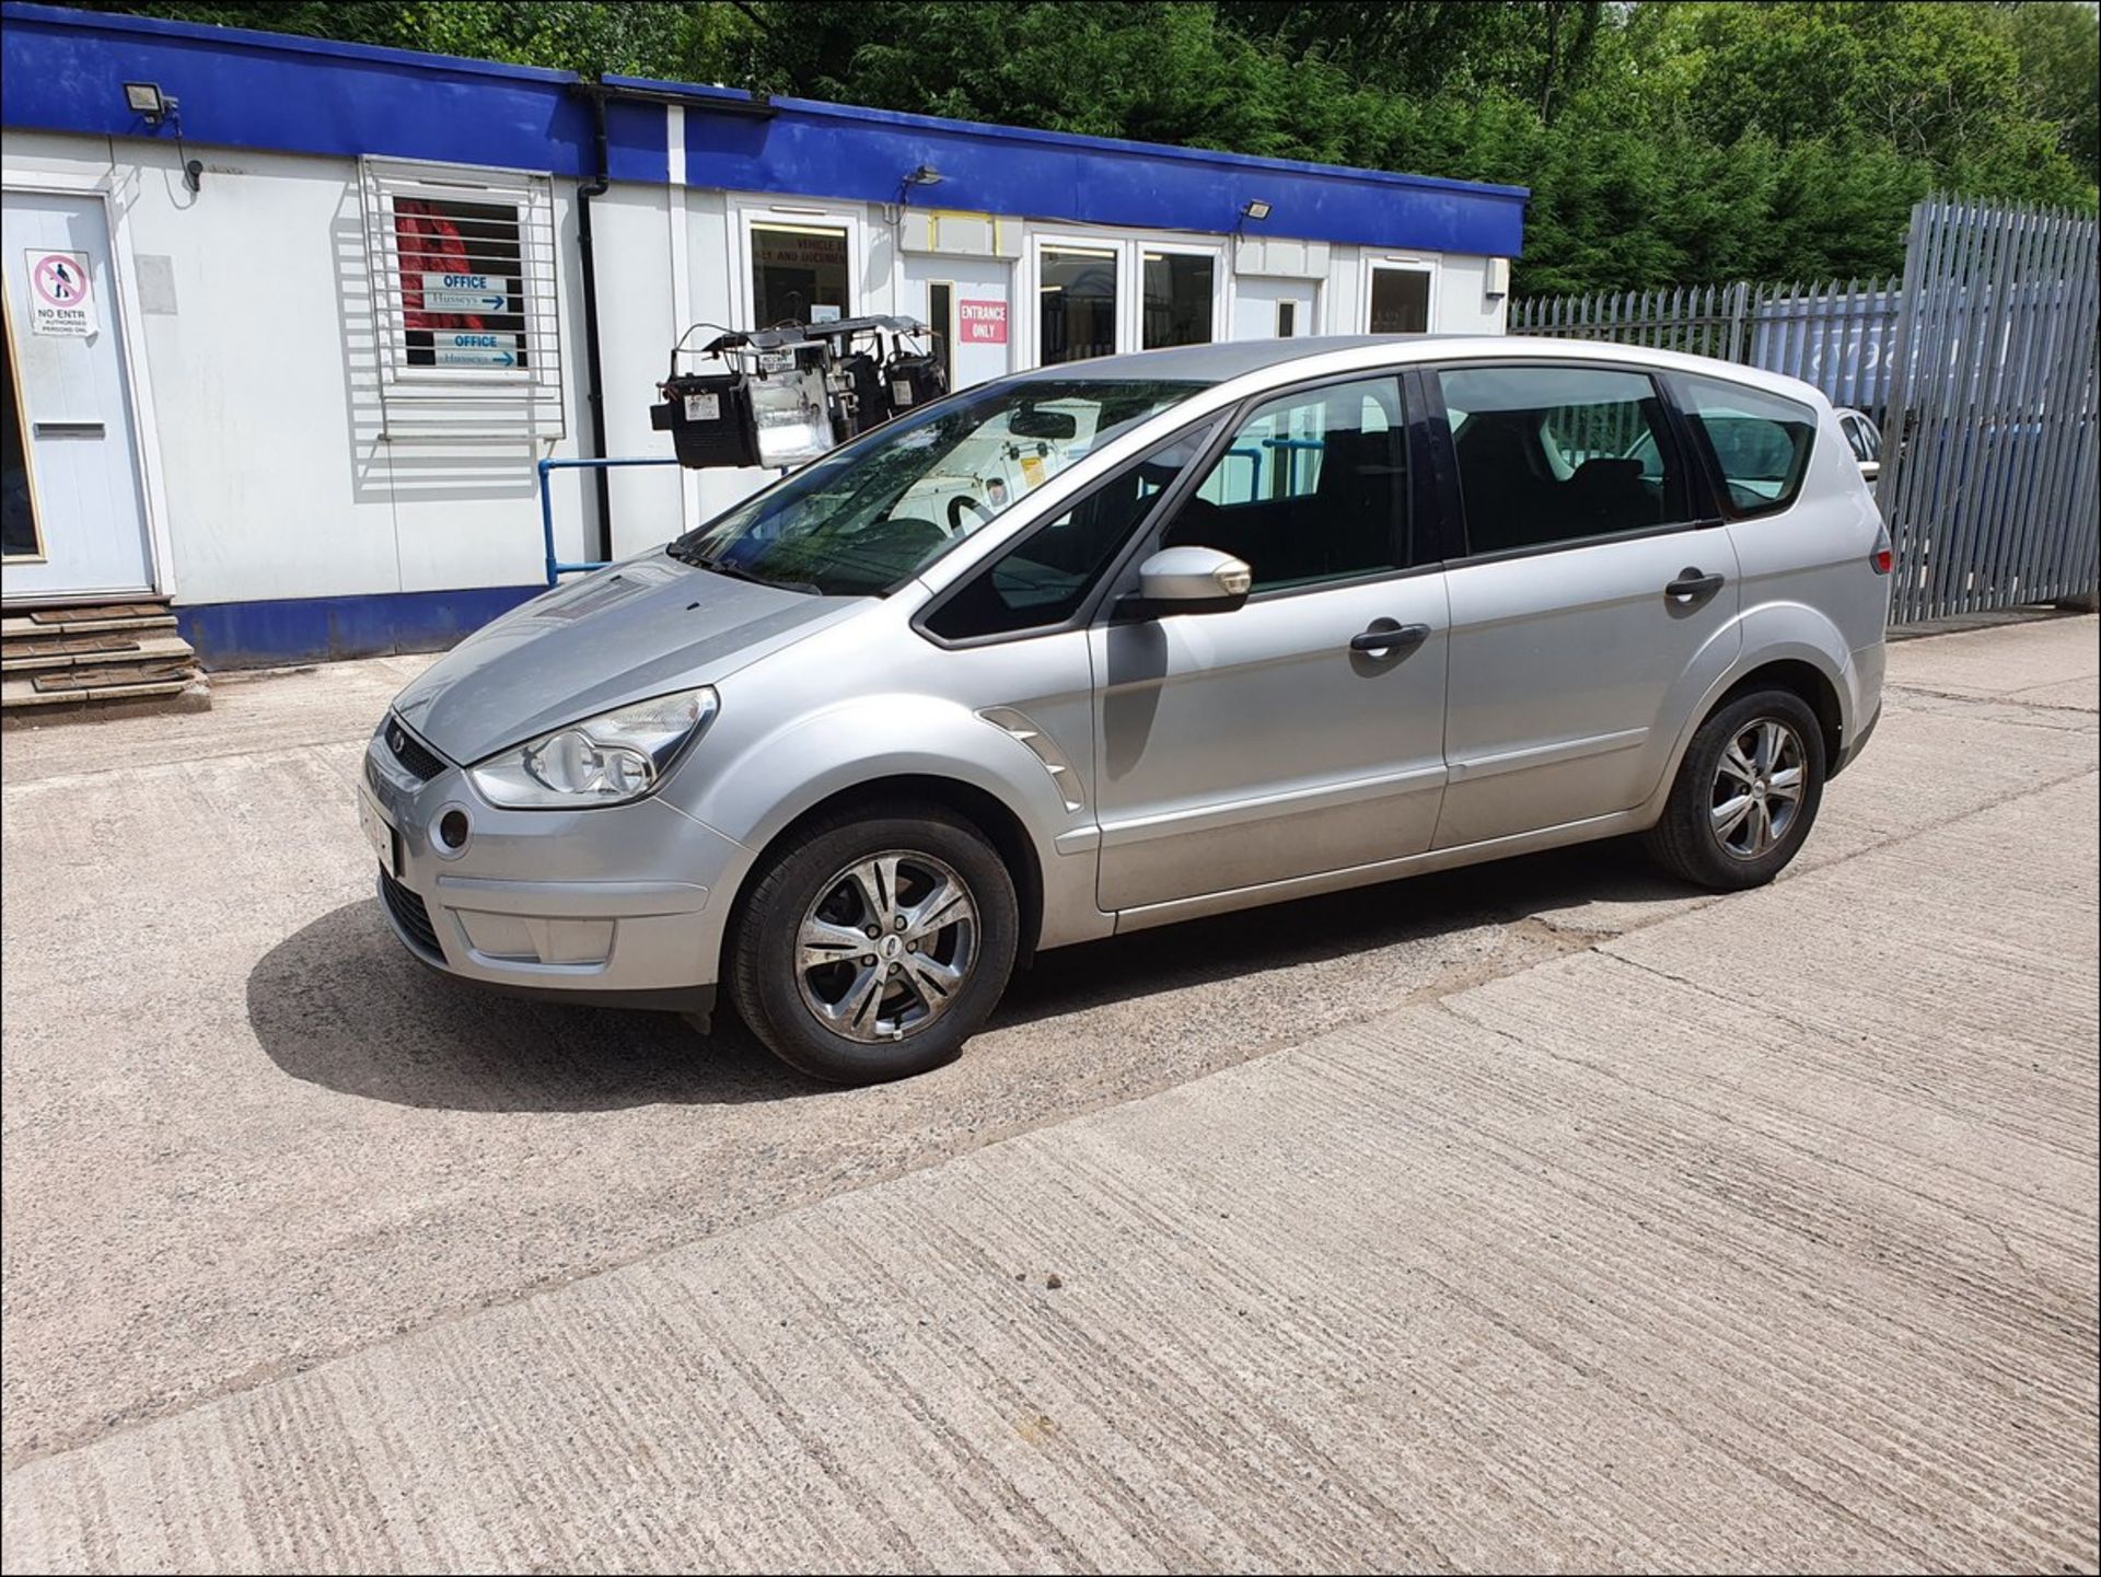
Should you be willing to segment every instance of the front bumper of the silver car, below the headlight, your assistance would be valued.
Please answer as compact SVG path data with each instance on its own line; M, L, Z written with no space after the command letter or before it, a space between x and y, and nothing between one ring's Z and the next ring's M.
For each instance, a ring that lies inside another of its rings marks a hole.
M389 729L399 727L389 722ZM569 1002L706 1010L723 943L710 895L746 850L660 796L586 811L500 811L460 766L366 748L359 821L380 863L380 909L431 968ZM420 743L420 741L418 741ZM466 817L445 848L437 823Z

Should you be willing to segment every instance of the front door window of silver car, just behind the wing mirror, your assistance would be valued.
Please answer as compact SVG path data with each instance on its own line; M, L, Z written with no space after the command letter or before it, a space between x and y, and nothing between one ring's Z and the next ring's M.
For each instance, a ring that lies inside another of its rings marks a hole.
M1395 378L1284 395L1242 422L1164 546L1229 552L1254 590L1403 569L1408 428Z

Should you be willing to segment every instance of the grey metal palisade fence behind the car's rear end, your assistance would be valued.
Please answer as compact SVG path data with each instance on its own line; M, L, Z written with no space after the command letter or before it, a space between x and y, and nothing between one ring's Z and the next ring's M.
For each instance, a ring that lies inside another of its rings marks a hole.
M1513 334L1618 340L1815 384L1885 430L1893 624L2093 596L2097 227L1946 199L1904 279L1536 296Z

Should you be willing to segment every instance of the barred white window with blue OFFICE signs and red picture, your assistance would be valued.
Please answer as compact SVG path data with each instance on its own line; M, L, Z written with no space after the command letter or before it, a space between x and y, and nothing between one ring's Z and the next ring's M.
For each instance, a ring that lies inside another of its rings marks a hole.
M368 157L359 189L368 290L345 279L353 397L376 382L389 437L561 437L553 181ZM370 319L355 311L366 302Z

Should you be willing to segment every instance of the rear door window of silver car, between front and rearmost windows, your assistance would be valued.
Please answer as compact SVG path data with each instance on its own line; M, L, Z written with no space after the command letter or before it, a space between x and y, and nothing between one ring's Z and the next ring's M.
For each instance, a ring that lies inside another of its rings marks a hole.
M1687 519L1656 380L1609 367L1441 374L1469 552L1546 548Z

